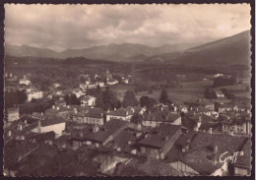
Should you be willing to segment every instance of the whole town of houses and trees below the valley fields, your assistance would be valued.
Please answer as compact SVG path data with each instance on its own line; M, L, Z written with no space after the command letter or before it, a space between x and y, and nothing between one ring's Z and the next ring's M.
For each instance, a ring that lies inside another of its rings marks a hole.
M6 175L251 172L251 102L224 89L244 81L233 75L204 77L201 81L211 85L202 94L179 101L172 100L172 89L164 83L157 97L151 96L155 89L129 89L118 95L118 86L135 86L133 71L112 74L105 68L101 74L79 74L74 88L53 82L45 89L32 82L33 76L5 73ZM176 74L176 79L185 77ZM235 160L228 160L233 154Z

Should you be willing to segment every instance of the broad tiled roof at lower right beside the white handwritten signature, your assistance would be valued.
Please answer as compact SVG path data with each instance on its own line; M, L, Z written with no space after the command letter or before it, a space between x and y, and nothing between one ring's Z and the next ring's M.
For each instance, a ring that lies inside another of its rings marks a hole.
M224 134L208 134L199 132L197 136L191 140L190 150L183 153L181 160L190 167L198 171L200 174L210 175L220 168L220 155L227 151L227 155L239 150L246 138L232 137ZM215 164L210 156L213 155L214 146L218 147Z

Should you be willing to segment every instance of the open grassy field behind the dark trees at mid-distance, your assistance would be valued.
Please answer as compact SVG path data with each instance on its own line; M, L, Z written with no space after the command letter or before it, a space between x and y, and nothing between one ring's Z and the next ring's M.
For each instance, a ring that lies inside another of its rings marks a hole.
M183 101L192 100L199 97L200 94L203 94L206 87L213 85L213 82L212 81L196 81L196 82L182 83L181 85L182 87L180 88L167 89L169 99L175 103L182 103ZM111 87L111 90L116 92L120 100L122 100L126 90L133 90L133 89L134 87L132 86ZM152 93L149 93L149 91L142 91L142 92L136 93L136 97L139 100L141 96L148 95L152 98L155 98L156 100L159 100L160 91L161 90L153 90Z

